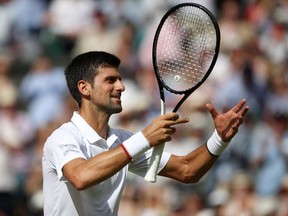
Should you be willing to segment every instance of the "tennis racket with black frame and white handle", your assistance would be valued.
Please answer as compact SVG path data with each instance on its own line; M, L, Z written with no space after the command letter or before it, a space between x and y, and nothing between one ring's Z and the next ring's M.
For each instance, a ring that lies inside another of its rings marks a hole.
M156 30L152 51L161 115L165 114L164 89L184 95L173 110L177 112L211 73L219 46L219 26L207 8L196 3L182 3L166 12ZM164 144L154 147L146 181L156 182L163 149Z

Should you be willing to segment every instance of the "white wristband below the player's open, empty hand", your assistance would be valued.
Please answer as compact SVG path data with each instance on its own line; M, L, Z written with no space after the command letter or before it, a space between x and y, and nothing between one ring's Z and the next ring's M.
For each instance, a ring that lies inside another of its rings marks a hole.
M230 142L224 142L218 135L216 129L207 141L208 151L215 156L220 156Z

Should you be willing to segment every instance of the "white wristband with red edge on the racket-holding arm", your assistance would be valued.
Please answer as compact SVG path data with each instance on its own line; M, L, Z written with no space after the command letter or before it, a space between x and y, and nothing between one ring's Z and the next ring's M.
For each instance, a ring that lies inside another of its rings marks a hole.
M122 146L124 146L132 159L151 147L141 131L123 142Z

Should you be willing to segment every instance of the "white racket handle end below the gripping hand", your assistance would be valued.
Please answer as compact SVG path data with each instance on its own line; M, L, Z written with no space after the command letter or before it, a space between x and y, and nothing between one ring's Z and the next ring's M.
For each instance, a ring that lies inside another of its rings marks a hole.
M148 171L145 175L145 181L155 183L157 178L157 171L160 164L161 156L164 150L165 144L155 146L152 152L151 161Z

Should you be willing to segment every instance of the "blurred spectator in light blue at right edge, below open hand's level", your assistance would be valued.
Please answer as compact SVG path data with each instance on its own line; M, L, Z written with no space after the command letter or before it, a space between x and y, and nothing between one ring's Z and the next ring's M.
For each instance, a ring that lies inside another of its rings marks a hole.
M251 131L249 147L250 170L254 173L255 193L258 196L276 196L287 170L282 154L286 120L277 113L267 112L265 121Z

